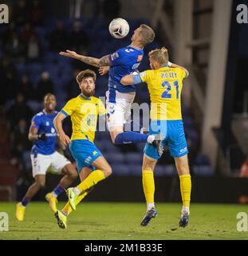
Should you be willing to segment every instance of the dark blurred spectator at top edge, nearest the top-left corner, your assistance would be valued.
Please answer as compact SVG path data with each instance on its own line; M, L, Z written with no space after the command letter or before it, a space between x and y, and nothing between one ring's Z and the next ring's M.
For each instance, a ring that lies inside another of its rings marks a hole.
M19 0L17 6L14 6L13 19L18 26L30 21L30 9L26 0Z

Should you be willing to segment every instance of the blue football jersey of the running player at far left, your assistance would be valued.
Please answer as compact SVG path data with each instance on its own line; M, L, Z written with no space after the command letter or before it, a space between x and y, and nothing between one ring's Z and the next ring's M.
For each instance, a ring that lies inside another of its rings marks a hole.
M45 141L38 140L32 147L31 154L53 154L56 150L57 132L53 126L53 119L57 116L46 114L45 110L39 112L32 118L31 127L37 128L37 134L46 134Z

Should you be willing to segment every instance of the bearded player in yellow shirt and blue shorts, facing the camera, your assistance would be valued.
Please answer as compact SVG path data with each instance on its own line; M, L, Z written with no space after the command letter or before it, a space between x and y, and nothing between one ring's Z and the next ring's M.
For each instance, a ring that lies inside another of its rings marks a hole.
M62 229L66 228L67 216L89 190L112 174L112 169L100 150L94 145L96 133L97 117L105 116L106 110L103 102L99 98L93 97L95 93L96 73L93 70L83 70L77 75L77 83L81 89L81 94L77 98L72 98L63 107L61 112L54 119L54 126L59 134L61 142L73 154L77 162L81 183L67 190L69 202L63 210L58 210L55 214L57 224ZM68 116L73 123L72 138L69 138L62 127L62 122Z

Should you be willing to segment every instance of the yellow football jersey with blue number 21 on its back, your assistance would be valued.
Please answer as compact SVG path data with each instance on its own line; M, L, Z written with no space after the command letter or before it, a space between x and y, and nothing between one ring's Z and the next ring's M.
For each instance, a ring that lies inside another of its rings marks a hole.
M140 78L148 84L152 120L182 120L181 92L186 73L182 68L146 70Z

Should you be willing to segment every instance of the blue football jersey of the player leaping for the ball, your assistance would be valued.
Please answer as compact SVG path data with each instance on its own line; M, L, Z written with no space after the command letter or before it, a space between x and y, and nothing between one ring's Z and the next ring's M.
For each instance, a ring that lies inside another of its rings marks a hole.
M108 88L118 90L120 93L129 93L136 90L134 85L123 86L120 79L127 74L136 71L142 61L144 51L127 46L116 50L115 53L109 55L110 69L108 78Z

